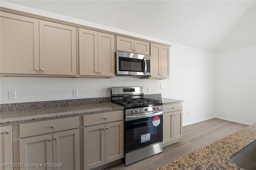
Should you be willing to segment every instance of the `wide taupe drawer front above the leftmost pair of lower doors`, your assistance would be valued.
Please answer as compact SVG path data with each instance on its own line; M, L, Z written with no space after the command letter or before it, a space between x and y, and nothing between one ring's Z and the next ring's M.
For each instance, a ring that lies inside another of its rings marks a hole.
M20 138L72 128L79 128L79 117L25 123L20 125Z

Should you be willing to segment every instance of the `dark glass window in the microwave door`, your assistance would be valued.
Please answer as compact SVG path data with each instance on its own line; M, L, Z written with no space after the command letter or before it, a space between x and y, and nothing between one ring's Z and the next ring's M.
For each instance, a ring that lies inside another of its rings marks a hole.
M143 72L143 59L119 57L119 71Z

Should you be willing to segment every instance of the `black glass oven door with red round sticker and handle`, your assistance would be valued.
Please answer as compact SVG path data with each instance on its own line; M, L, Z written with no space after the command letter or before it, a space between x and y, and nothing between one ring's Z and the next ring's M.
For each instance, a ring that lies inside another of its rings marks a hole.
M136 119L135 117L138 117ZM163 112L128 115L125 121L125 153L163 141Z

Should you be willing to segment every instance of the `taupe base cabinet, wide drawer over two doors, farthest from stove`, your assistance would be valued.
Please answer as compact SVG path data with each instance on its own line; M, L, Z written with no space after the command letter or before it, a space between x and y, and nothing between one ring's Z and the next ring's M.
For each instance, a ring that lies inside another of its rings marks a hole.
M20 170L80 170L79 117L25 123L19 128Z

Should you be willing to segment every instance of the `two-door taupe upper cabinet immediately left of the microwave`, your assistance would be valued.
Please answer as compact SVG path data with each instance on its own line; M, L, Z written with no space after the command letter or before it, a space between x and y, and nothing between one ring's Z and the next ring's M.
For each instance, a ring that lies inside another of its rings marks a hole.
M114 35L79 28L80 75L115 75Z

